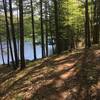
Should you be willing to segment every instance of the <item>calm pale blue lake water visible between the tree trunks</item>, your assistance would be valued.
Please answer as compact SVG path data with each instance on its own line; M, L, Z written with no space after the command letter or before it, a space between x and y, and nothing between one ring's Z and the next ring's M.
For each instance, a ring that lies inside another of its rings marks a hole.
M34 59L32 42L25 41L24 51L25 51L25 59L26 60L33 60ZM5 42L3 42L3 52L4 52L5 63L7 63L7 50L6 50L6 43ZM48 45L48 53L49 53L49 55L53 54L52 45ZM36 56L37 56L37 58L42 57L41 45L36 45ZM11 61L11 57L10 57L10 61ZM2 63L3 62L2 62L1 51L0 51L0 64L2 64Z

